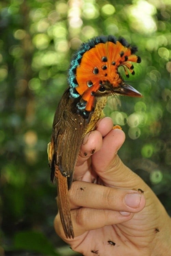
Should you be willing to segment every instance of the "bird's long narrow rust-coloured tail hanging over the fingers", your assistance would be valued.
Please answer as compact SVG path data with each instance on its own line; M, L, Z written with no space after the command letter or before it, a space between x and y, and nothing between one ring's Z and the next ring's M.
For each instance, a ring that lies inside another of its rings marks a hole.
M57 178L58 210L66 238L74 238L74 231L71 221L67 177L58 171Z

